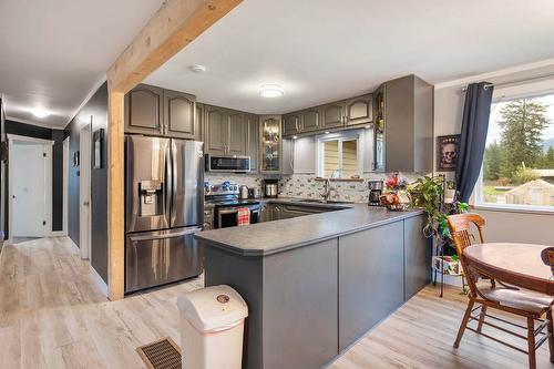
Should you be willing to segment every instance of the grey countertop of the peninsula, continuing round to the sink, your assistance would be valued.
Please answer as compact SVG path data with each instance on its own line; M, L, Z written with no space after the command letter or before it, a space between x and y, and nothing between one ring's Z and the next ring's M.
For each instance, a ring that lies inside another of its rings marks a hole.
M339 209L242 227L203 230L196 237L205 244L243 256L266 256L423 214L422 209L391 212L353 203L305 203L295 198L263 202Z

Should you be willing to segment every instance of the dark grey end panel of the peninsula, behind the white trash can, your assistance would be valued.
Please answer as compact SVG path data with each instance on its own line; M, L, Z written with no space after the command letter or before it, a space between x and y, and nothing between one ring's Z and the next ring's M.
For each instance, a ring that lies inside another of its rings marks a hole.
M248 306L243 368L263 366L263 258L242 257L199 240L204 247L204 284L206 287L228 285L236 289Z

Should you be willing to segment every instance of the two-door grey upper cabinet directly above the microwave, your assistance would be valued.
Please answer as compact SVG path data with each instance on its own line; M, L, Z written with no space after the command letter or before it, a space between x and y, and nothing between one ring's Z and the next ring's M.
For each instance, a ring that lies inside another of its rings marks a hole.
M246 155L248 147L248 121L246 113L205 105L206 153L212 155Z

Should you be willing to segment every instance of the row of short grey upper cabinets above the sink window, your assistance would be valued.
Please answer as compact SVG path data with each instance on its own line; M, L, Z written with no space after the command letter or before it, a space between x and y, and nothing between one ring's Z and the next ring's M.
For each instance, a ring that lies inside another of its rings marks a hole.
M283 116L283 135L317 133L330 129L367 125L373 121L373 98L366 94L320 106L288 113Z

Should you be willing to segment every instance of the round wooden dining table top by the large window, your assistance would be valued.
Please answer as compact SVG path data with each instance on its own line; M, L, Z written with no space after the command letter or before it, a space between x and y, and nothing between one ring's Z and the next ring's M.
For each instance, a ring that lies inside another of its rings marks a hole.
M505 284L554 296L551 267L541 258L550 246L533 244L484 243L463 252L468 266Z

